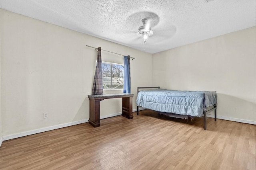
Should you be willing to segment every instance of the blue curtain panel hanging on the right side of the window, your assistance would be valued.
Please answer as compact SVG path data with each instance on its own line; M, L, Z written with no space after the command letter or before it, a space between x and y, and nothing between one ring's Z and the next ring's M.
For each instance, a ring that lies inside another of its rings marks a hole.
M124 56L124 93L131 93L130 55Z

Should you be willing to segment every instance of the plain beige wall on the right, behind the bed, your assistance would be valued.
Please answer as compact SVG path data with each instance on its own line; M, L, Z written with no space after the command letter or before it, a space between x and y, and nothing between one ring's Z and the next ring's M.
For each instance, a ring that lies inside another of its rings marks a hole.
M217 91L217 115L256 122L256 27L153 55L153 84Z

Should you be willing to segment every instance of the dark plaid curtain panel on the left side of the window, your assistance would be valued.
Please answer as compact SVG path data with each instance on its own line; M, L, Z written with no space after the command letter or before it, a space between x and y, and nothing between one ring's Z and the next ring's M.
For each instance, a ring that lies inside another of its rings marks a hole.
M97 65L92 86L92 95L103 94L101 48L98 47Z

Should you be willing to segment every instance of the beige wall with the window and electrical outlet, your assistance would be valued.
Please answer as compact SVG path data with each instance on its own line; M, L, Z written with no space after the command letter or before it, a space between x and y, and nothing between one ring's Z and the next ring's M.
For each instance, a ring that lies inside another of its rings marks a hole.
M5 10L0 14L3 136L89 118L97 51L86 45L136 58L132 93L152 86L152 54ZM102 61L123 63L123 57L102 51ZM121 112L121 99L101 101L100 110L102 116Z

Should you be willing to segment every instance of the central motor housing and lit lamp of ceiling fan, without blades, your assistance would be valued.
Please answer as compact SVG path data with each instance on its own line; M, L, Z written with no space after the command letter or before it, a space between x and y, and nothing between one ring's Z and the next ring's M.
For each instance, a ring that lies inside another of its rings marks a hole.
M153 35L153 31L150 27L150 20L148 20L147 18L143 18L142 20L143 25L139 27L138 29L138 35L142 36L142 38L144 39L144 43L146 43L146 39Z

